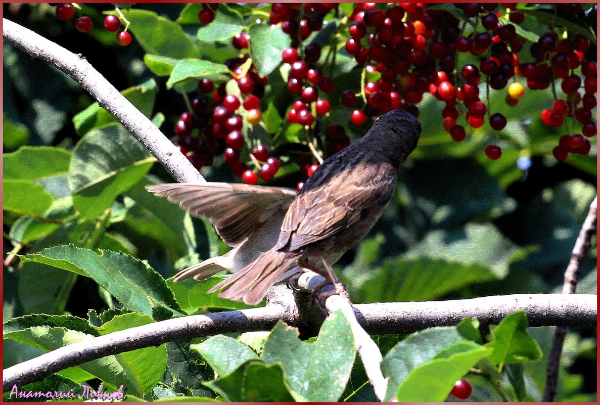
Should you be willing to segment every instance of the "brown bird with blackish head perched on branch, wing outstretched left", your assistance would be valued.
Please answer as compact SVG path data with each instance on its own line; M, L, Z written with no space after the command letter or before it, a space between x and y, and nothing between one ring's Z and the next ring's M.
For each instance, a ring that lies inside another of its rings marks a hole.
M339 284L332 265L361 241L388 206L400 164L416 148L421 124L395 109L364 137L323 161L296 192L230 183L146 186L191 215L208 218L232 250L179 272L174 281L232 271L209 293L257 305L274 284L305 268Z

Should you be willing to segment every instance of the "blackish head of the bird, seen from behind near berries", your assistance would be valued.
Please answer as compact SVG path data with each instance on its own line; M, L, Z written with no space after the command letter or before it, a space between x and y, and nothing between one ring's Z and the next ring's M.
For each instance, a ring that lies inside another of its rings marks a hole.
M406 110L385 113L373 124L363 138L370 147L398 166L416 148L421 135L421 123Z

